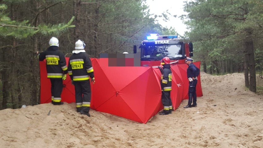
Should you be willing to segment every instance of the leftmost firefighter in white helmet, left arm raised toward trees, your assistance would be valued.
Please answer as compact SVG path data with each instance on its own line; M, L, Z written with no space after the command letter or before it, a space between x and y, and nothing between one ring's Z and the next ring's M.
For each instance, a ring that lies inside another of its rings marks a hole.
M49 48L44 52L37 52L39 61L46 59L48 78L51 82L51 102L54 105L62 105L61 93L63 90L63 80L66 79L68 67L65 55L58 50L59 41L52 37L49 40Z

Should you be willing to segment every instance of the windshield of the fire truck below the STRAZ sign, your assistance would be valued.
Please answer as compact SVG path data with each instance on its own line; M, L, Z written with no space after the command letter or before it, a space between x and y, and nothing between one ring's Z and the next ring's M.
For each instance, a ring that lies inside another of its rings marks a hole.
M141 46L141 60L161 60L163 57L178 59L184 57L182 44ZM152 59L153 58L153 59Z

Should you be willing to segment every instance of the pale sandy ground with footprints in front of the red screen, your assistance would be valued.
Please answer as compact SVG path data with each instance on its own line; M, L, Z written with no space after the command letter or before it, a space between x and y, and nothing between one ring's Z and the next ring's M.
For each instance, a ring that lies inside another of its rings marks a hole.
M196 108L183 108L183 100L172 114L157 114L147 124L94 110L87 117L67 103L1 110L0 147L262 148L263 97L244 88L244 75L201 73L201 80Z

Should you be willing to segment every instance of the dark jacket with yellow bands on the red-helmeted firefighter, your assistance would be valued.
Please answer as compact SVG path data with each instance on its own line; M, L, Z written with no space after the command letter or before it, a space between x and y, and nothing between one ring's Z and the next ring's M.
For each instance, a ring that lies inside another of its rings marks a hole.
M161 75L161 89L163 91L172 90L172 70L170 69L170 64L165 64L163 66Z

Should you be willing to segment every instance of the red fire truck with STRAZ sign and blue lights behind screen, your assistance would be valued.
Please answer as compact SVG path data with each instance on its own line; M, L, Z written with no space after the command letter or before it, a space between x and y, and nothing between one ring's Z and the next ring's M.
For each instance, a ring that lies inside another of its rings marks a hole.
M141 66L158 66L163 57L169 57L170 64L183 64L186 57L193 56L193 43L186 40L177 35L150 34L147 40L133 46L133 53L137 53L139 46Z

